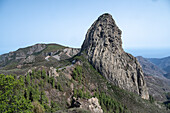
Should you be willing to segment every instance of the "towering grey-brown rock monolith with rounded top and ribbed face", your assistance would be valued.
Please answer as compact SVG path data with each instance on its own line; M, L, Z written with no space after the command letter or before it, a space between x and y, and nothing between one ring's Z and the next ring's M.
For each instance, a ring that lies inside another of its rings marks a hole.
M103 14L88 30L81 52L86 52L89 62L107 80L148 99L142 68L135 57L124 52L121 34L112 16Z

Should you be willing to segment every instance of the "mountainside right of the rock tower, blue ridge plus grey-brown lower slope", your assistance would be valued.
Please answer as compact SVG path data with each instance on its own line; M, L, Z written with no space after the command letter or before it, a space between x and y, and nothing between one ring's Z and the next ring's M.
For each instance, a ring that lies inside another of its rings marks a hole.
M169 75L160 67L150 62L147 58L142 56L137 56L136 58L145 73L149 94L157 101L166 101L166 93L170 92L170 80L166 79Z

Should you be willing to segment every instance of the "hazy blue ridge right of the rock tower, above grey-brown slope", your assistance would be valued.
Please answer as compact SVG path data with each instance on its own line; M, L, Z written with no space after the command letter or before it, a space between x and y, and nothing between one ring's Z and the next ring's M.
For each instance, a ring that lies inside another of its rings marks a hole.
M141 64L142 69L146 75L164 77L163 75L166 72L159 68L158 66L156 66L155 64L151 63L148 59L143 58L142 56L137 56L136 58Z

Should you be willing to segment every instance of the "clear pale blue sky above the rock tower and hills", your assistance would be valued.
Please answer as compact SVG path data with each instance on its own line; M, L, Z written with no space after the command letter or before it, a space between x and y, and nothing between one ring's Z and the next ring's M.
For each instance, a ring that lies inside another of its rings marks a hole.
M170 0L0 0L0 54L36 43L80 48L103 13L122 30L125 51L170 56Z

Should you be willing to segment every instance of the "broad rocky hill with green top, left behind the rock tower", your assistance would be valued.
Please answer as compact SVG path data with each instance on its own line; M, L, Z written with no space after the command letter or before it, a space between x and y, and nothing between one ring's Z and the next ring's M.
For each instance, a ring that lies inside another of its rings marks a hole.
M0 55L0 69L22 69L35 65L44 65L49 59L60 61L68 59L79 52L79 49L64 47L58 44L35 44L17 51Z

